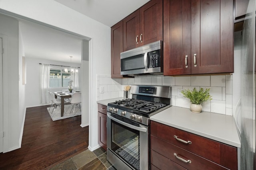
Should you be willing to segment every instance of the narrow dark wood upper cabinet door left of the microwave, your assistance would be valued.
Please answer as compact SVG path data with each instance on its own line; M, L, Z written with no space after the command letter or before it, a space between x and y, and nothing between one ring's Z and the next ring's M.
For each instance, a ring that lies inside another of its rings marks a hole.
M111 27L111 78L122 78L120 53L123 52L123 22Z

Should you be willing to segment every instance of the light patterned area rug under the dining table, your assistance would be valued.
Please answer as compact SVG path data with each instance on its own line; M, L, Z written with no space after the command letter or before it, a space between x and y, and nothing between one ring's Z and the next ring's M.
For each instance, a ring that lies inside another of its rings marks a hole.
M50 108L50 110L49 110L49 108ZM74 108L72 109L71 104L64 105L64 109L65 109L66 113L64 111L63 117L60 116L60 107L59 106L57 106L57 108L53 112L52 112L52 109L54 109L54 107L47 107L48 113L52 117L52 121L56 121L56 120L60 120L60 119L66 119L66 118L69 118L69 117L73 116L73 109ZM71 109L72 109L72 111L71 111ZM71 113L70 113L70 111L71 111ZM74 116L78 116L78 115L81 115L81 111L80 111L79 106L77 105L76 108L75 108Z

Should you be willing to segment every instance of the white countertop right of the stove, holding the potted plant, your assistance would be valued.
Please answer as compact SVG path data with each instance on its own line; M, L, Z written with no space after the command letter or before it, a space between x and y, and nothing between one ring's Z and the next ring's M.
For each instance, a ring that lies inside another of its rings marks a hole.
M241 147L233 116L206 111L193 113L190 109L172 106L151 116L150 120L227 145Z

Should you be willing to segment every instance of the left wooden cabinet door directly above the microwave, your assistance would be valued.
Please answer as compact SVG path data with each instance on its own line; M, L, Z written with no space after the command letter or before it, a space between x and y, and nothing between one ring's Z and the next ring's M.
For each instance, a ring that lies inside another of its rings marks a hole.
M124 27L124 43L123 49L124 51L134 49L139 47L139 10L135 11L134 13L130 14L123 20L123 27Z

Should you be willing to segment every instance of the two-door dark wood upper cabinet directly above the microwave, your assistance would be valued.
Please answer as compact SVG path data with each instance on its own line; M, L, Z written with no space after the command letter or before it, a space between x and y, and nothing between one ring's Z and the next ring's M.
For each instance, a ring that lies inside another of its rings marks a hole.
M123 20L123 50L163 39L163 1L150 0Z

